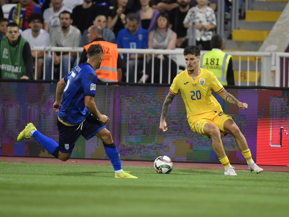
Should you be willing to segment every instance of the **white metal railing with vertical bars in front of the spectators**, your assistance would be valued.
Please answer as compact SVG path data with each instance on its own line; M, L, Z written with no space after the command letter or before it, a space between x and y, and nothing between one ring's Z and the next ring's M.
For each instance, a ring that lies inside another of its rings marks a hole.
M35 50L35 51L44 51L49 52L49 55L54 55L54 52L69 52L69 54L71 52L77 52L77 59L76 59L76 63L79 63L79 54L83 51L82 47L32 47L31 50ZM178 72L181 71L180 68L186 68L185 65L185 60L183 57L183 49L179 48L179 49L175 49L175 50L157 50L157 49L119 49L119 52L121 54L129 54L129 53L133 53L136 55L138 54L144 54L144 59L143 61L143 75L145 75L145 70L146 70L146 56L151 55L152 57L152 69L151 69L151 83L154 83L154 57L157 54L163 54L163 55L168 55L169 57L169 70L168 70L168 80L170 81L170 77L171 77L171 66L170 66L170 60L172 60L172 55L176 56L177 61L177 69ZM206 51L201 51L201 54L204 53ZM262 86L276 86L279 87L280 86L280 58L281 57L289 57L289 53L269 53L269 52L241 52L241 51L228 51L226 52L230 55L232 55L234 58L238 58L238 66L236 66L236 62L234 64L234 68L238 69L238 83L236 85L240 86L240 85L262 85ZM45 55L44 55L45 56ZM250 60L250 57L253 57L254 60ZM245 80L244 82L241 82L241 71L244 73L244 69L242 70L242 67L244 68L244 65L242 66L241 63L244 64L244 58L246 59L246 71L247 71L247 80ZM37 59L37 52L36 52L36 58ZM261 59L261 61L259 61ZM135 59L135 63L137 63L137 59ZM43 77L45 78L45 58L44 58L44 63L43 63ZM62 59L61 59L61 64L62 64ZM72 68L72 63L70 63L70 59L69 59L69 69ZM162 59L160 59L160 83L166 83L167 81L162 81L162 64L163 61ZM250 67L252 67L252 64L255 68L255 79L254 81L250 81ZM37 66L37 60L35 61L35 65ZM251 66L250 66L251 65ZM127 59L126 61L126 81L129 81L129 60ZM36 78L36 68L35 67L35 78ZM276 70L275 71L275 82L272 81L271 78L271 70ZM135 72L134 72L134 82L137 82L137 64L135 64ZM53 72L53 58L52 58L52 72ZM177 73L178 73L177 72ZM261 79L260 81L258 81L258 72L261 73ZM285 68L285 59L284 59L284 67L283 67L283 78L285 77L285 74L288 74L288 69L286 71ZM60 77L59 79L62 78L62 71L60 68ZM51 79L54 79L53 77L53 73L51 73ZM57 78L58 79L58 78ZM236 79L237 80L237 79ZM145 81L143 81L145 82ZM273 82L273 84L272 84ZM288 81L289 82L289 81ZM169 83L169 82L168 82ZM283 87L285 86L285 81L283 80Z

